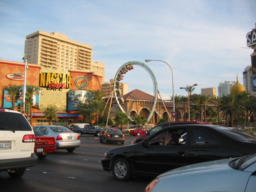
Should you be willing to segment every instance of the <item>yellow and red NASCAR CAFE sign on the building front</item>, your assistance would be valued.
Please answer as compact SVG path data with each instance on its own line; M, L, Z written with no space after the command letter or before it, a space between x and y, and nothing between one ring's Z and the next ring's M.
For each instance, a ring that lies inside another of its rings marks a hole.
M71 76L61 73L40 73L40 87L50 89L70 88Z

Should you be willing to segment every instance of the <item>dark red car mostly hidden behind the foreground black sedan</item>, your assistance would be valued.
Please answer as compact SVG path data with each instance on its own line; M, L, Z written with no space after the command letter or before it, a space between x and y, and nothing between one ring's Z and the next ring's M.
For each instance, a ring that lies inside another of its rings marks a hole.
M161 123L161 124L158 124L158 125L154 126L152 129L150 129L148 132L146 132L146 134L138 136L134 140L133 143L136 144L138 142L141 142L142 140L144 140L148 136L152 135L153 133L161 130L162 128L165 128L165 127L168 127L168 126L173 126L173 125L186 125L186 124L211 124L211 123L208 123L208 122L196 122L196 121L174 121L174 122Z

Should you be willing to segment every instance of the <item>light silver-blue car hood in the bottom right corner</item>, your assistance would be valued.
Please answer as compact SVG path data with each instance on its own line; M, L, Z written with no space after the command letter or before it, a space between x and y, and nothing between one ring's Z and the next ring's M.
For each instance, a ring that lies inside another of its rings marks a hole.
M193 164L157 176L145 192L255 192L256 154Z

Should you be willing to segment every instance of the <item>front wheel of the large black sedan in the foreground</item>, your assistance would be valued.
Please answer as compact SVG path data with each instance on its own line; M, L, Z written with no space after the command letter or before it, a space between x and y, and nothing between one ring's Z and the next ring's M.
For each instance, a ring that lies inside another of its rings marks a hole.
M112 173L116 180L126 181L130 179L131 172L132 172L132 169L131 169L130 163L126 159L119 158L114 161Z

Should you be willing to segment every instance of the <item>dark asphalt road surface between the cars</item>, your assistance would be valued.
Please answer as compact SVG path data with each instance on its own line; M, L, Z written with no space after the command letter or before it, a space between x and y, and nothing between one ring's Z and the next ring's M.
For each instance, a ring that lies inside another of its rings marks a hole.
M126 135L124 145L135 136ZM82 135L74 152L56 150L34 167L27 168L21 178L0 173L0 192L143 192L153 177L137 177L126 182L114 179L112 172L102 169L100 160L110 148L120 143L100 143L99 137Z

